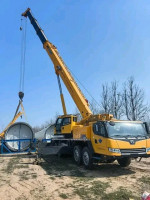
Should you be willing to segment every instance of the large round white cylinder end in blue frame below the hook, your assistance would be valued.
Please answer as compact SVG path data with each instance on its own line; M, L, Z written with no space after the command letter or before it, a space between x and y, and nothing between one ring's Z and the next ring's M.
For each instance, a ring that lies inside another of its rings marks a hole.
M17 122L7 129L5 133L5 144L12 151L18 151L19 149L20 151L25 151L30 147L30 140L33 140L33 138L34 134L31 126L24 122ZM20 142L16 140L20 140Z

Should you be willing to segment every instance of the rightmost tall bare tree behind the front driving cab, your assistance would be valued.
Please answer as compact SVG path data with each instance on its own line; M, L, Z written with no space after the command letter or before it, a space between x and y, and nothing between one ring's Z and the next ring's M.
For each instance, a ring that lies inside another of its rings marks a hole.
M144 120L148 114L148 106L144 104L144 91L130 77L123 88L124 113L128 120Z

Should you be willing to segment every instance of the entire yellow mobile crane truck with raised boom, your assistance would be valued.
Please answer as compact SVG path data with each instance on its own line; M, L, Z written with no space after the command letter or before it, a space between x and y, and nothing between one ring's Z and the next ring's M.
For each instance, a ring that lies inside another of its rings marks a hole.
M111 114L93 115L77 83L69 72L57 48L48 41L30 8L22 16L28 17L44 49L54 64L57 75L64 115L55 123L53 143L65 143L73 149L75 162L91 168L95 160L113 162L117 160L122 167L130 164L131 158L150 157L150 136L148 126L141 121L123 121L113 118ZM72 99L78 107L82 119L68 115L62 93L64 82Z

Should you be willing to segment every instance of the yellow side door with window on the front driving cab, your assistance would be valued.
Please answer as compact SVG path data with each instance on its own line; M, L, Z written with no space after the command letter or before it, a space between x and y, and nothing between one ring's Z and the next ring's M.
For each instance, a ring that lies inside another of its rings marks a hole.
M95 153L106 154L106 128L104 122L93 124L92 145Z

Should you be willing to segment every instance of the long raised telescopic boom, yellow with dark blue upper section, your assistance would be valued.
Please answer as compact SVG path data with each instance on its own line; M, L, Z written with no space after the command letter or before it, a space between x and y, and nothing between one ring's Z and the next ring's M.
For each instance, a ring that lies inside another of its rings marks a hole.
M30 8L28 8L22 14L22 16L28 17L30 19L30 22L33 25L38 37L40 38L44 49L47 51L49 57L54 64L56 74L59 75L63 80L83 119L88 118L92 114L88 102L82 94L81 90L79 89L68 68L66 67L63 59L60 57L57 48L48 41L37 20L33 17Z

